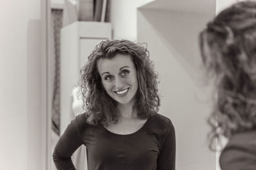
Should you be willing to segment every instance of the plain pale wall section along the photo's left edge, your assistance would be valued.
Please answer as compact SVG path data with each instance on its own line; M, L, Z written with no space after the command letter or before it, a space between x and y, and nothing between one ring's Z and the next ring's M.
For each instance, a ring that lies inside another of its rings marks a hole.
M44 167L40 0L0 1L0 160L4 170Z

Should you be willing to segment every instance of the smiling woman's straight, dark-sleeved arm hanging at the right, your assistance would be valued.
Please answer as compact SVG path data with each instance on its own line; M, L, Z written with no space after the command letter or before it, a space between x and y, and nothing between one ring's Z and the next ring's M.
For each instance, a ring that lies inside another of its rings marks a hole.
M170 129L168 129L167 136L157 159L157 170L175 170L175 129L172 122L169 122L169 125Z

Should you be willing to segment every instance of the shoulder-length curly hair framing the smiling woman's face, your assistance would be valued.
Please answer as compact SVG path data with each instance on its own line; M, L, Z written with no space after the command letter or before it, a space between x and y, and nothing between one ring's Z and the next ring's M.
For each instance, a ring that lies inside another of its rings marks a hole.
M83 109L89 124L109 125L117 122L120 116L116 108L117 102L104 90L100 74L97 70L99 59L111 59L116 54L130 55L136 67L138 90L134 108L138 117L148 118L158 112L160 99L157 89L157 73L154 63L149 59L145 44L133 43L122 39L102 41L95 47L88 57L88 62L81 68L81 94L83 95Z

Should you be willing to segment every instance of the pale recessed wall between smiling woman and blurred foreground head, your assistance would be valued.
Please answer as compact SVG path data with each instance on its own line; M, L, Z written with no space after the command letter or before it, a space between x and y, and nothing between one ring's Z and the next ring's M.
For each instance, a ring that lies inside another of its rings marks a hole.
M214 7L213 7L214 9ZM138 12L138 41L147 42L159 73L159 112L171 118L176 131L179 170L215 170L208 148L206 118L211 112L211 88L203 84L198 33L211 14L171 10Z

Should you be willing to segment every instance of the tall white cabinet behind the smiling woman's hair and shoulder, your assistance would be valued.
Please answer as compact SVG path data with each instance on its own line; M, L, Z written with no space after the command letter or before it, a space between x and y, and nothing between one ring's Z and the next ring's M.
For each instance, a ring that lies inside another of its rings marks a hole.
M72 118L71 93L79 80L79 71L95 46L106 39L111 39L111 24L106 22L74 22L61 29L61 134Z

